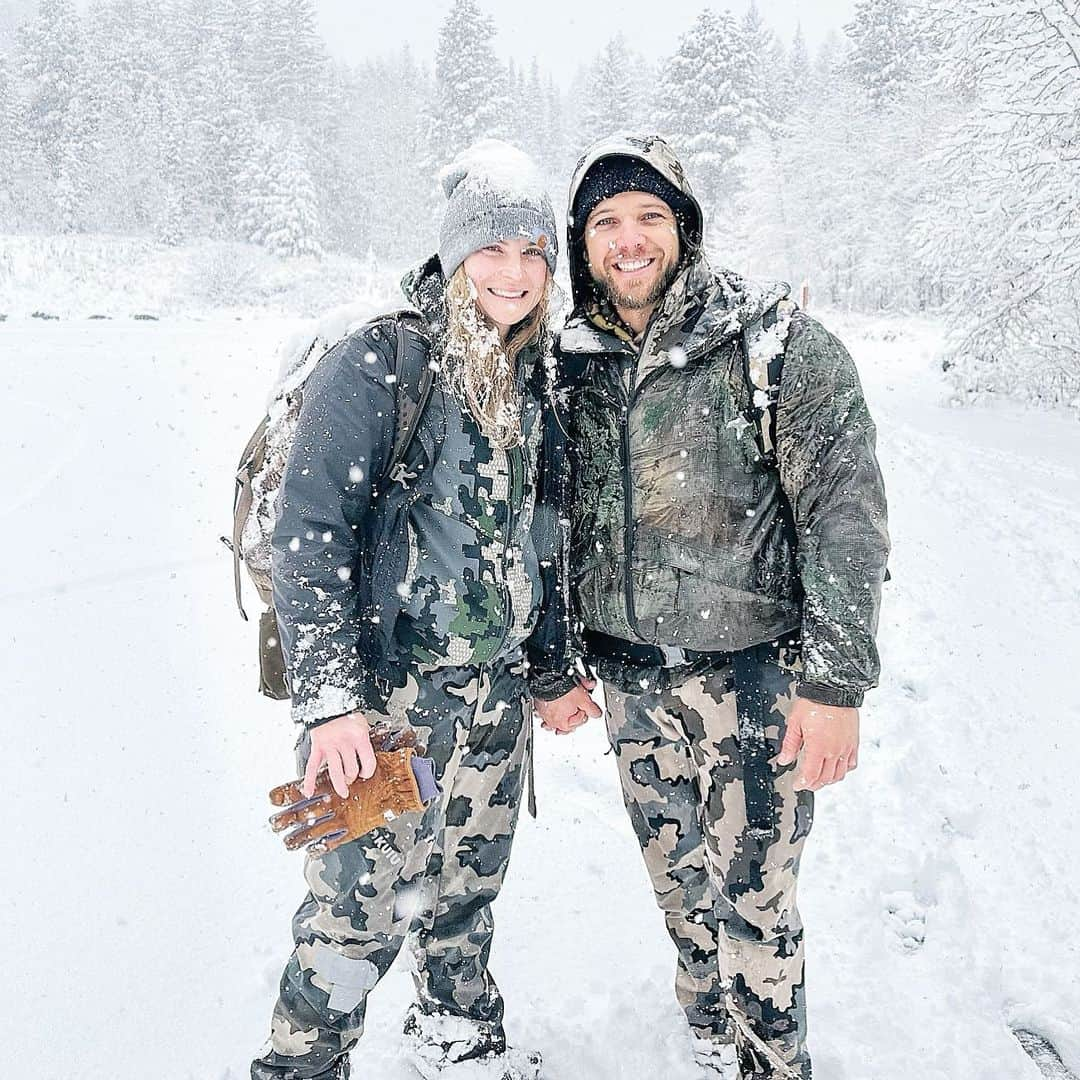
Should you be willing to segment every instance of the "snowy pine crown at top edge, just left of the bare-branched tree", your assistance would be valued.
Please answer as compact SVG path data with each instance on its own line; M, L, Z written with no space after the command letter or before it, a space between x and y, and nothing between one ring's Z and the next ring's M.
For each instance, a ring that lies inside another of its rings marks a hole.
M852 49L851 77L882 108L897 102L916 79L921 30L910 0L858 0L845 28Z

